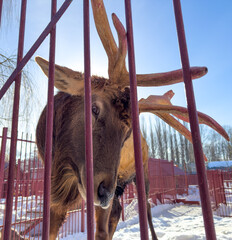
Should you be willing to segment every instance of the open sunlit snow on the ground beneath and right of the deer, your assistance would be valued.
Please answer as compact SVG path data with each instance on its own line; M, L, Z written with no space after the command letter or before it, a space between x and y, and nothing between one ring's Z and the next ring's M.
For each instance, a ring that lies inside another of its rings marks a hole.
M133 202L132 205L133 207L137 207ZM200 206L188 206L183 204L158 205L152 208L152 216L153 225L159 239L206 239ZM222 218L214 215L214 223L218 240L232 240L231 218ZM86 233L79 233L63 238L63 240L72 239L84 240L87 239L87 235ZM132 216L125 222L120 221L113 239L140 239L138 215Z

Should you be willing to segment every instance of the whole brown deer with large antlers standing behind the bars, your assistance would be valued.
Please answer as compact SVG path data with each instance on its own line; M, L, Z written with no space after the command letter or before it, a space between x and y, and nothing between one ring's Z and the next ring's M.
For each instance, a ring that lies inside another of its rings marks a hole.
M92 0L96 29L108 56L108 78L92 76L92 136L94 167L94 205L96 240L110 240L116 230L122 207L120 196L127 184L135 181L133 131L130 106L129 73L126 69L126 31L112 14L118 34L118 46L112 35L102 0ZM49 63L41 57L36 62L48 76ZM193 79L207 73L206 67L192 67ZM138 86L163 86L183 81L182 70L165 73L137 74ZM86 199L84 74L55 65L54 85L59 92L54 97L52 148L50 239L57 237L68 209ZM191 133L175 117L189 121L186 108L173 106L169 91L163 96L149 96L139 101L140 112L152 112L191 139ZM175 117L173 117L175 116ZM198 113L200 123L212 127L228 139L224 129L209 116ZM36 129L38 152L44 160L46 106ZM152 224L148 202L148 144L141 135L147 215L152 239L158 239ZM136 183L136 182L135 182Z

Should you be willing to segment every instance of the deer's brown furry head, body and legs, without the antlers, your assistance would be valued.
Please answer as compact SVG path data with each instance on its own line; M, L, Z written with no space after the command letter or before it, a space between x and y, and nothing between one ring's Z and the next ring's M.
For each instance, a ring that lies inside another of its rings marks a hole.
M47 75L48 62L43 59L37 62ZM56 238L67 211L73 205L78 205L81 198L86 198L84 99L79 89L74 88L74 82L78 79L70 77L81 74L70 71L56 65L55 85L62 91L65 85L66 93L59 92L54 98L51 240ZM95 238L112 239L121 214L118 197L123 194L128 183L135 181L130 94L128 88L111 86L104 78L93 77L92 82ZM45 152L45 129L46 107L36 131L42 158ZM143 137L141 141L148 196L148 147ZM150 205L147 204L149 226L153 239L157 239L152 226Z

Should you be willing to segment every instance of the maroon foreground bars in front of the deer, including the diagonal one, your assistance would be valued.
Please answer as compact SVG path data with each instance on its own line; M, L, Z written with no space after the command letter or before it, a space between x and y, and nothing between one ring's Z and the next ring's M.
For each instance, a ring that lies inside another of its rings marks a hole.
M0 16L2 12L2 2L0 1ZM23 56L23 46L24 46L24 32L25 32L25 18L26 18L26 5L27 1L22 0L21 4L21 18L20 18L20 27L19 27L19 44L18 44L18 64L17 68L13 71L12 75L9 77L5 85L0 90L0 99L5 94L12 82L15 82L15 95L14 95L14 108L13 108L13 119L12 119L12 133L11 133L11 144L10 144L10 155L9 155L9 174L8 174L8 190L7 190L7 200L6 200L6 211L7 215L5 218L5 230L4 230L4 239L10 239L11 233L11 220L13 212L13 197L14 197L14 169L16 163L16 143L17 143L17 130L18 130L18 109L19 109L19 95L20 95L20 83L21 75L20 71L38 49L40 44L50 34L50 67L49 67L49 91L48 91L48 115L47 115L47 134L46 134L46 151L45 151L45 175L44 175L44 206L43 206L43 239L48 239L49 234L49 208L50 208L50 175L51 175L51 146L52 146L52 116L53 116L53 82L54 82L54 58L55 58L55 24L60 19L62 14L68 8L72 0L64 1L63 5L58 11L56 11L56 0L51 1L52 13L51 21L48 23L47 27L41 33L40 37L36 40L31 49ZM185 41L184 25L182 19L181 5L180 0L173 0L174 12L176 17L176 26L179 40L179 47L181 53L181 60L183 66L183 75L185 82L185 89L188 102L188 110L190 117L190 126L192 130L192 138L194 143L194 153L196 158L196 167L198 172L200 195L202 199L202 210L204 225L206 230L206 236L208 239L216 239L213 216L210 206L210 196L207 186L205 167L204 167L204 158L201 146L200 131L198 125L198 117L196 113L195 99L193 86L190 75L190 66L188 60L187 45ZM143 167L141 159L141 147L140 147L140 136L139 136L139 125L138 125L138 106L137 106L137 95L136 95L136 74L135 74L135 64L134 64L134 46L133 46L133 31L132 31L132 16L131 16L131 4L130 0L125 0L126 8L126 22L127 22L127 38L128 38L128 52L129 52L129 70L130 70L130 82L131 82L131 102L133 107L133 130L134 130L134 142L135 142L135 156L136 156L136 169L138 180L138 191L139 191L139 212L140 212L140 231L141 239L148 239L148 230L147 230L147 218L146 218L146 203L143 201L145 199L145 190L144 190L144 180L143 180ZM85 96L86 96L86 128L87 138L86 138L86 162L87 169L87 218L88 218L88 239L94 238L94 216L93 216L93 179L92 179L92 155L91 155L91 111L90 111L90 102L91 102L91 87L90 87L90 50L89 50L89 1L84 1L84 51L85 51ZM89 151L90 150L90 151Z

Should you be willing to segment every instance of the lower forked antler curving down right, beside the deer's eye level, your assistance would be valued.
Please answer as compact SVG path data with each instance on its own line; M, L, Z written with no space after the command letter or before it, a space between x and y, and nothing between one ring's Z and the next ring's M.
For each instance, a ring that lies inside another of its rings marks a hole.
M140 112L154 113L167 124L184 135L192 143L192 136L190 131L172 116L174 115L175 117L185 122L189 122L188 110L184 107L173 106L170 101L173 96L174 92L171 90L166 92L163 96L152 95L147 99L142 98L139 101L139 110ZM229 136L226 131L213 118L204 113L198 112L198 119L200 124L208 125L217 131L220 135L222 135L227 141L229 141ZM204 158L207 160L205 156Z

